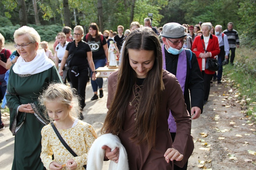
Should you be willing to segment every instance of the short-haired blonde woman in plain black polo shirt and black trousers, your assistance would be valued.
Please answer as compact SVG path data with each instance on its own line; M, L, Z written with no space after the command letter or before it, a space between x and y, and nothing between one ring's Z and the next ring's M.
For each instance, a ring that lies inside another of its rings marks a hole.
M93 63L93 57L90 46L88 43L82 40L84 35L84 29L82 26L76 26L74 28L75 40L67 45L65 54L62 58L59 74L62 76L63 68L66 64L66 60L70 54L73 54L71 61L71 67L68 70L68 76L71 80L73 88L77 90L77 94L81 97L80 106L81 110L85 106L85 88L88 80L88 65L92 70L91 79L95 80L95 66ZM82 113L80 119L83 120Z

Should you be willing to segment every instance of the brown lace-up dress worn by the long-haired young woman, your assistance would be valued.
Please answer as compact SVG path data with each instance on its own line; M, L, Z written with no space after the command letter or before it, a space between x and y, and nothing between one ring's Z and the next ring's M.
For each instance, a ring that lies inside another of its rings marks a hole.
M112 73L108 79L108 101L107 107L115 94L118 71ZM163 82L165 90L163 91L161 108L156 129L156 146L147 151L147 143L137 145L129 138L134 130L136 121L138 103L140 102L140 92L142 86L134 84L133 93L130 95L130 102L127 103L125 121L121 132L118 134L128 155L129 169L131 170L169 170L172 169L172 163L167 163L163 156L168 148L174 148L184 155L182 161L174 161L174 164L183 166L194 149L193 137L190 135L191 117L186 110L182 89L175 76L166 70L163 70ZM168 117L171 110L177 125L175 142L172 143L168 129Z

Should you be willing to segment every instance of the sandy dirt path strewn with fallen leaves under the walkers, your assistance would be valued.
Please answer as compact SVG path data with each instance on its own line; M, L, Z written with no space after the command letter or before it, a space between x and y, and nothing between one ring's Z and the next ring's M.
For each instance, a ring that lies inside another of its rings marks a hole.
M90 83L87 84L86 107L83 112L84 121L93 125L98 135L100 135L100 129L107 112L106 79L103 84L104 97L97 101L90 101L93 92ZM238 101L234 97L238 94L230 88L231 84L231 81L224 82L221 85L214 82L211 87L209 102L205 104L203 114L198 119L192 120L191 135L194 137L195 149L189 159L189 170L202 168L213 170L256 169L252 162L245 162L245 159L248 159L246 161L256 162L256 156L249 154L247 151L256 151L256 133L253 131L256 128L240 112L241 105L239 103L243 101ZM8 129L8 120L5 120L4 123L6 128L0 132L0 169L10 170L13 160L14 137ZM206 137L202 137L200 133ZM224 139L218 139L219 137ZM245 142L248 144L245 144ZM201 150L202 148L209 151ZM233 156L233 159L230 159L230 156ZM103 170L108 169L108 164L109 162L104 163ZM198 166L201 166L201 168L198 168Z

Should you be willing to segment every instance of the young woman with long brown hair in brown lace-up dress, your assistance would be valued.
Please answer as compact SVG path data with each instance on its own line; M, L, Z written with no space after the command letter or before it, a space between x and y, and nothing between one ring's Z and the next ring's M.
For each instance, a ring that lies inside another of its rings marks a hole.
M151 28L127 36L121 67L108 79L107 108L101 132L119 137L129 169L170 170L173 162L183 166L191 155L191 118L182 89L175 76L162 69L160 42ZM170 110L177 122L174 143L167 121ZM118 148L102 149L105 158L118 163Z

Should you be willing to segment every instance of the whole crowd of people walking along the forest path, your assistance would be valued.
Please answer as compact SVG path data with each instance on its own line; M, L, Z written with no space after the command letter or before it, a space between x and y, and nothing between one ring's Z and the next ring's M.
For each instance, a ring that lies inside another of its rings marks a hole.
M72 29L63 27L54 54L31 27L15 31L13 53L4 48L0 34L1 107L9 107L15 135L12 169L92 166L87 160L97 134L81 121L85 89L90 79L90 100L103 97L103 79L96 77L96 69L113 65L111 48L119 67L108 78L109 111L101 133L116 135L120 144L104 138L109 146L96 146L103 150L102 160L127 169L186 170L194 149L191 121L203 113L211 81L222 83L223 65L233 65L239 48L233 23L222 29L210 22L170 22L155 28L150 18L144 26L132 22L125 31L119 25L117 32L101 33L91 23L87 34L76 26L72 36ZM209 68L210 59L217 60L217 70ZM0 130L4 128L0 117Z

